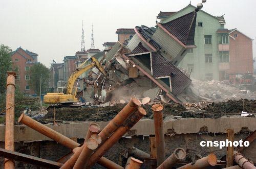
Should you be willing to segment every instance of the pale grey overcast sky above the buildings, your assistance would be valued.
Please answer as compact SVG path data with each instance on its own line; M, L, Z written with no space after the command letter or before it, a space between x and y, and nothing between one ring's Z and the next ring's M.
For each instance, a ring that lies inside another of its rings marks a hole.
M200 0L193 0L196 6ZM14 51L21 46L39 55L38 61L50 66L64 56L81 49L81 25L84 23L86 49L91 47L91 25L95 47L116 42L118 28L155 26L159 11L178 11L190 0L15 0L1 1L0 44ZM203 10L212 15L225 14L225 28L238 28L252 39L256 37L255 0L207 0ZM253 21L254 20L254 21ZM253 41L256 57L256 40Z

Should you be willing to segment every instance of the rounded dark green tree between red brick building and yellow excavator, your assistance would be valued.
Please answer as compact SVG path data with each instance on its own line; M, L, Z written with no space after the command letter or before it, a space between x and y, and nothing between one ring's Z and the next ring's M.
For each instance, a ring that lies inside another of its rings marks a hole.
M41 76L41 92L47 92L48 81L49 81L49 69L41 64L36 63L30 67L29 71L29 85L36 92L37 95L40 93L40 76Z

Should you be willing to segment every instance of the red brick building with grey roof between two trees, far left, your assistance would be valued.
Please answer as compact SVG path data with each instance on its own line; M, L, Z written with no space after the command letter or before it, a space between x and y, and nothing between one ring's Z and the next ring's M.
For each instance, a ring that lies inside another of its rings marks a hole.
M37 54L19 47L16 51L11 52L10 57L13 66L17 67L18 71L16 78L16 88L25 94L35 94L35 91L31 89L28 84L30 79L29 70L30 67L37 63Z

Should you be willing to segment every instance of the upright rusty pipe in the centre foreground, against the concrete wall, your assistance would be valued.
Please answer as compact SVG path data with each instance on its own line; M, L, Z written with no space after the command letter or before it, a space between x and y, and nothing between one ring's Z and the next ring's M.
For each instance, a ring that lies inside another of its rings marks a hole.
M164 130L163 130L163 106L156 104L152 106L154 113L154 126L155 126L155 139L157 149L157 166L165 160L165 143L164 143Z

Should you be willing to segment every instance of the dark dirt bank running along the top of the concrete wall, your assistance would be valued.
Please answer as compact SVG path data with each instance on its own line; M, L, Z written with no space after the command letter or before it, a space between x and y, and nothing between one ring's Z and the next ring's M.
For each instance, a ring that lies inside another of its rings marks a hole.
M103 121L108 122L113 119L126 104L116 104L106 107L87 107L87 108L60 108L56 110L56 120L85 122ZM244 100L245 112L253 113L256 111L256 101ZM243 100L211 103L205 108L195 112L190 112L182 104L163 104L163 116L181 116L182 118L219 118L231 115L228 113L241 113L243 111ZM153 118L152 105L142 106L147 114L143 118ZM217 113L217 114L207 114ZM48 123L45 119L53 119L53 112L48 112L43 118L37 119L40 123Z

